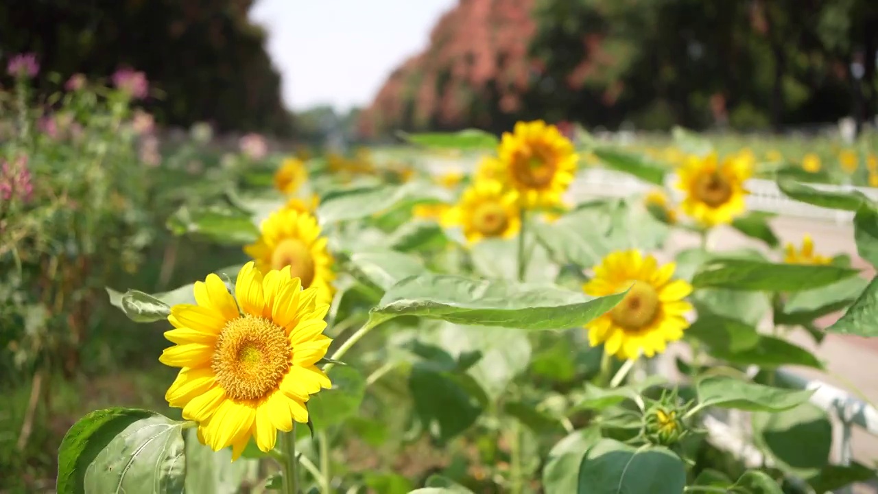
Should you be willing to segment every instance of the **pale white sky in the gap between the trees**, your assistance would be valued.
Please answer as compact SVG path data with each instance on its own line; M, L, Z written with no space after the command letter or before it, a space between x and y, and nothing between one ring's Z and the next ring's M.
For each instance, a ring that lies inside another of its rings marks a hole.
M457 0L258 0L287 107L368 105Z

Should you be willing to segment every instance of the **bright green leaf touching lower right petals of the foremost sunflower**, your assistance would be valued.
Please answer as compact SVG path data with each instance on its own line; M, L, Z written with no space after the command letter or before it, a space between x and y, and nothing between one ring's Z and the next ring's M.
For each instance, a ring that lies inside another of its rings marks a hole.
M329 369L329 381L332 381L332 389L323 389L312 395L307 403L314 432L324 431L355 416L360 410L360 403L363 403L366 381L356 367L335 366ZM305 427L300 429L299 437L308 434Z

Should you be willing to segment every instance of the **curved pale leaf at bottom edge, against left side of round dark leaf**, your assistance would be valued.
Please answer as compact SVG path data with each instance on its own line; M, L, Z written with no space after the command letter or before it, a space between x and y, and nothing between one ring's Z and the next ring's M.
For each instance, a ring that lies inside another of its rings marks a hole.
M551 448L543 469L546 494L576 492L579 484L579 464L588 449L601 440L601 430L589 427L571 432Z

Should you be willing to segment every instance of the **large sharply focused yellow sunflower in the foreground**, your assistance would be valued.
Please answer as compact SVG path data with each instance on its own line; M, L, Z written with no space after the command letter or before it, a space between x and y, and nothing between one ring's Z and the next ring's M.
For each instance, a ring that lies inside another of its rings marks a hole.
M176 345L159 360L182 367L165 394L169 405L198 422L198 440L213 451L231 446L236 460L250 437L268 453L277 431L308 422L305 403L331 387L315 364L332 340L323 335L329 306L317 288L302 290L289 267L263 278L249 262L234 293L216 274L196 282L197 305L170 309L175 329L165 338Z

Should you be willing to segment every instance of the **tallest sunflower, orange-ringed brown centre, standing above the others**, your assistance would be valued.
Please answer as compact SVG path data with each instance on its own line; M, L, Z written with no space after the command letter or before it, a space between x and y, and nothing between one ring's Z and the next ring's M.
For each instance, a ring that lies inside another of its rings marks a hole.
M523 207L557 204L579 160L572 142L543 120L518 122L512 134L503 133L499 154Z

